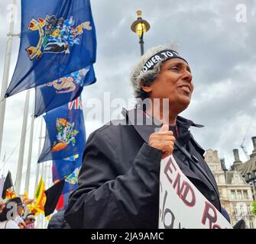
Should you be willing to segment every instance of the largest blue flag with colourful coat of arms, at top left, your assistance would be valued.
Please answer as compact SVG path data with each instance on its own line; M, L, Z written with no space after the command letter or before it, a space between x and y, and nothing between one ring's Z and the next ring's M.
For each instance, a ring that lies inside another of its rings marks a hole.
M95 61L96 30L89 0L22 0L18 62L5 97Z

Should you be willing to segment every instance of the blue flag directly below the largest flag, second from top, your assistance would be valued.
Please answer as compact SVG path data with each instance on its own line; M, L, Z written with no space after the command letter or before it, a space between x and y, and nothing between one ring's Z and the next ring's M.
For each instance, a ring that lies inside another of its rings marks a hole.
M93 66L88 66L53 82L37 86L34 116L38 117L53 108L73 101L79 97L83 86L94 82L96 82L96 77Z

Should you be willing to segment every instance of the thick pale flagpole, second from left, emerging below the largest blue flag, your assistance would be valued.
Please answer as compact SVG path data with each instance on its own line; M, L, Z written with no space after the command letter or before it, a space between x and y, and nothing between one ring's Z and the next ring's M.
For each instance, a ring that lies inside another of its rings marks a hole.
M17 168L16 181L15 181L15 190L18 194L21 194L21 176L22 176L24 146L25 146L26 130L27 130L27 122L28 122L29 95L30 95L30 90L28 90L26 95L26 100L25 100L24 117L23 117L23 124L22 124L22 130L21 130L21 146L20 146L20 151L18 153L18 168Z

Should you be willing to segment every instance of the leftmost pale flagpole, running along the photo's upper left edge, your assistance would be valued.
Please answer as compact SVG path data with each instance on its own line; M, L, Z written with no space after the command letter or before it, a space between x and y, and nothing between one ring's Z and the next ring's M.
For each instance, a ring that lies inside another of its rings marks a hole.
M17 5L17 1L13 0L13 5ZM15 7L14 7L15 8ZM14 14L14 13L12 13ZM2 149L2 137L3 137L3 130L4 130L4 123L5 123L5 106L6 106L6 99L5 99L5 92L8 86L8 79L9 79L9 72L10 72L10 63L11 63L11 47L12 47L12 39L13 37L19 37L20 34L14 34L15 28L15 19L14 15L12 15L12 19L10 22L9 32L7 34L8 40L6 45L5 51L5 66L4 66L4 74L2 79L2 89L1 89L1 98L0 98L0 156L1 156L1 149Z

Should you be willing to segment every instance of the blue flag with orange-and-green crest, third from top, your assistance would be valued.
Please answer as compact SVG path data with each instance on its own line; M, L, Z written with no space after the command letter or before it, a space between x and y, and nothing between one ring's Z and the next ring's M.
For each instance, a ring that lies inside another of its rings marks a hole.
M47 112L44 148L38 162L65 159L83 152L86 131L80 98Z

